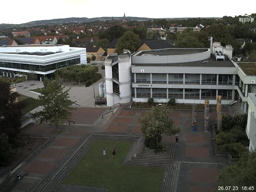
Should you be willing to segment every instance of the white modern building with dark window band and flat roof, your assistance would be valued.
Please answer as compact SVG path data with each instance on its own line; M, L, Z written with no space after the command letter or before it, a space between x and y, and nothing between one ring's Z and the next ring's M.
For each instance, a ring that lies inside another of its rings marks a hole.
M87 64L86 49L69 45L20 45L0 47L0 75L20 72L36 74L37 79L54 77L58 68Z

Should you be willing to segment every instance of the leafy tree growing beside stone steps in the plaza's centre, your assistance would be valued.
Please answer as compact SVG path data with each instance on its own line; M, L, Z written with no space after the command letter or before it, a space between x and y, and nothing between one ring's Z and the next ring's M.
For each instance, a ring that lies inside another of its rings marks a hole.
M143 118L138 118L138 122L145 140L150 139L155 148L161 142L161 134L171 136L180 132L170 118L170 108L166 104L152 106Z

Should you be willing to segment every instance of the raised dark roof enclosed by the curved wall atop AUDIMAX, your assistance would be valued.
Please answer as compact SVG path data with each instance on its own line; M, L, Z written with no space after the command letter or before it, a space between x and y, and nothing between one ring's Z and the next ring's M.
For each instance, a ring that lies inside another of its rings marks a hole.
M147 50L142 51L136 56L168 56L168 55L187 55L203 53L208 51L208 49L196 49L196 48L168 48L168 49L158 49L158 50Z

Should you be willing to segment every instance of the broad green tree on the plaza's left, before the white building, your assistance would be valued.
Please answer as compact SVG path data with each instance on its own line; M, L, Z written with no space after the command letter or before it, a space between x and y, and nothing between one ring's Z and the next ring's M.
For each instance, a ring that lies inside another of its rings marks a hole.
M70 88L63 91L64 87L58 81L59 77L56 76L55 81L50 81L49 79L44 80L44 88L42 88L42 95L39 96L41 106L44 109L36 112L34 118L39 118L40 123L45 120L50 120L50 122L56 125L57 131L59 131L58 126L64 122L64 120L70 120L70 116L74 110L72 108L73 102L68 99L68 92Z

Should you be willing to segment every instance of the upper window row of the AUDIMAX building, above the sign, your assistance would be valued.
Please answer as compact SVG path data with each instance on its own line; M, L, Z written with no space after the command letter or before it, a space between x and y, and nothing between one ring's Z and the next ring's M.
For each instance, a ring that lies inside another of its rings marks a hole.
M168 74L169 84L183 84L183 74ZM136 73L136 83L150 83L149 73ZM202 74L202 84L217 84L216 74ZM133 81L134 82L134 81ZM152 83L154 84L166 84L167 74L152 74ZM218 84L232 85L233 75L218 75ZM239 84L239 76L235 79L236 85ZM185 84L200 84L200 74L185 74Z

